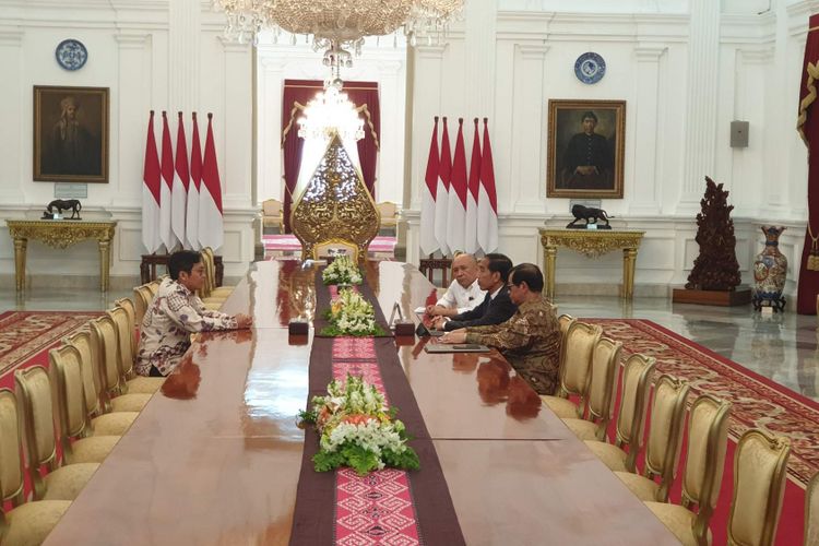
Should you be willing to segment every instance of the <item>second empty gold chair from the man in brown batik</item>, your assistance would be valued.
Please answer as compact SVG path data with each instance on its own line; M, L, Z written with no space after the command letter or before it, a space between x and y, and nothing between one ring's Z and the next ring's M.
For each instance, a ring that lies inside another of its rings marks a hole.
M621 349L621 342L608 337L597 340L592 355L589 396L582 418L563 418L566 426L581 440L603 440L606 437L614 410Z

